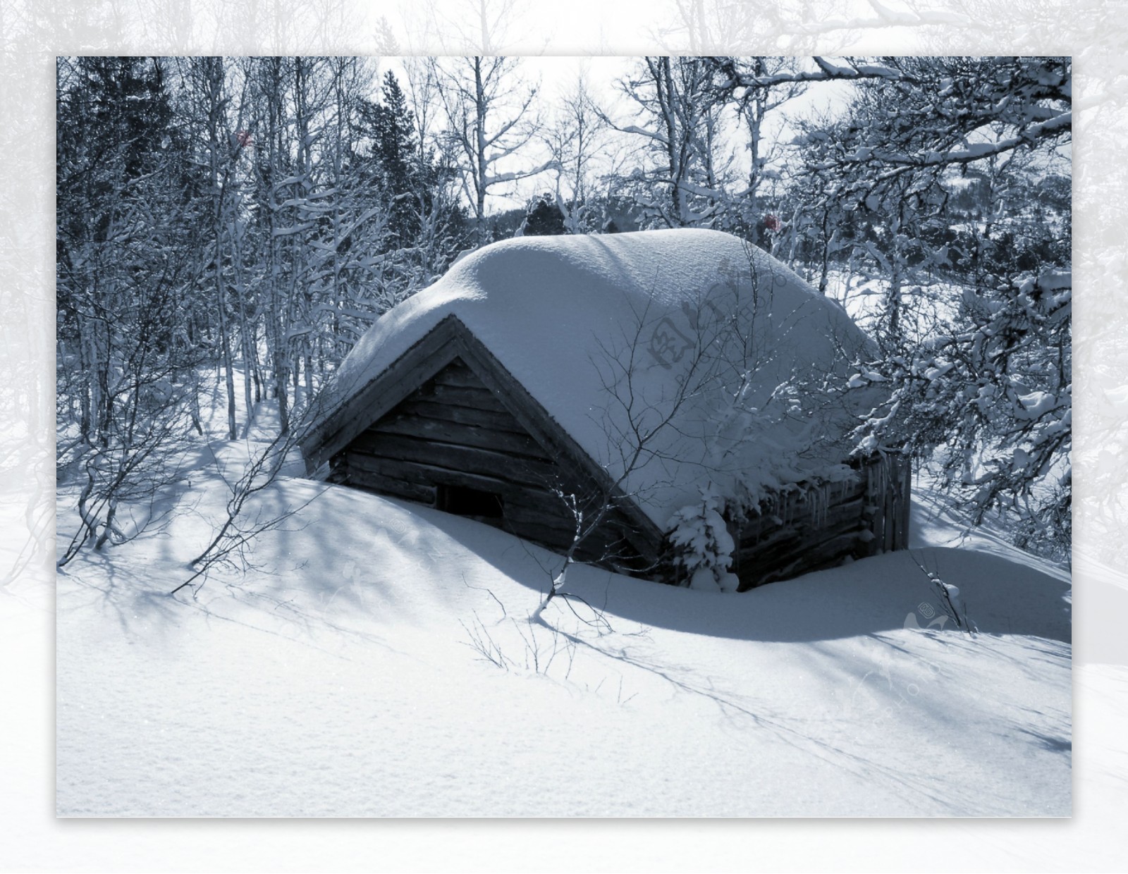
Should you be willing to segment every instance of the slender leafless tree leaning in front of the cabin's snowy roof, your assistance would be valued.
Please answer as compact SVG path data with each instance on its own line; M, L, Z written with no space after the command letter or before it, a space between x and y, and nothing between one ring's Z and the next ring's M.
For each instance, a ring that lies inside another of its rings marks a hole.
M845 387L835 387L845 381L860 339L830 334L807 353L813 360L781 356L788 335L802 333L811 315L805 307L785 312L775 302L776 285L786 281L747 246L744 263L721 265L717 281L686 302L678 325L645 304L615 336L599 341L591 364L603 399L597 409L608 477L587 492L557 488L574 537L553 566L534 619L555 598L582 600L567 594L567 572L593 536L626 502L661 505L684 493L686 470L698 480L702 506L687 504L670 520L663 560L684 568L682 582L696 577L700 584L697 572L704 571L725 586L734 585L726 575L733 545L721 542L728 537L721 513L757 513L774 491L801 477L846 473L840 461L849 447L841 431L851 414ZM828 445L841 454L828 460ZM679 523L712 527L713 542L679 539ZM601 560L624 557L611 550Z

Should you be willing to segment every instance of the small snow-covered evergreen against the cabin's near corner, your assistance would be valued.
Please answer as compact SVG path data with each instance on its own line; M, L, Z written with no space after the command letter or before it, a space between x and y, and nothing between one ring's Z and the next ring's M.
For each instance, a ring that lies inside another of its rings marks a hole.
M673 563L686 570L690 589L734 592L738 580L729 573L735 549L721 513L724 500L713 484L700 489L700 501L678 510L670 519Z

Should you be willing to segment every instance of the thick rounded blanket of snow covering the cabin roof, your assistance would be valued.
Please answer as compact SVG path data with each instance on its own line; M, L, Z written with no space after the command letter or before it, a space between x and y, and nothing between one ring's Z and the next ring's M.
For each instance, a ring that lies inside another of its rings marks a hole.
M755 501L843 475L844 434L870 406L837 390L869 352L845 310L761 249L697 229L479 249L372 325L329 406L449 316L663 530L708 482ZM794 377L816 385L781 391Z

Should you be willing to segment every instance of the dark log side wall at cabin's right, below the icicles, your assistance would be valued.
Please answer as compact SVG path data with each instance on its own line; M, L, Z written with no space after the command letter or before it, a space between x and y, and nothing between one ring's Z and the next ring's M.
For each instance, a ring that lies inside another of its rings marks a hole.
M910 467L896 454L855 465L851 482L776 496L730 524L741 591L908 547Z

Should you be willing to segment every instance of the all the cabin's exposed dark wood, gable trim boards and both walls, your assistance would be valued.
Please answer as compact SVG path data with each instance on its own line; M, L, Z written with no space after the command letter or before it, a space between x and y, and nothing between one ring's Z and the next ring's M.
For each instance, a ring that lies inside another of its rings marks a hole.
M602 471L459 323L446 328L397 362L390 381L365 387L311 441L307 460L316 464L318 447L332 447L321 458L333 482L440 509L450 487L497 495L500 515L474 518L565 551L575 521L554 489L601 503L600 488L609 487L600 486ZM849 483L779 495L730 523L742 590L908 545L907 461L891 456L855 467ZM677 582L662 532L618 500L576 558ZM594 506L581 509L590 519Z

